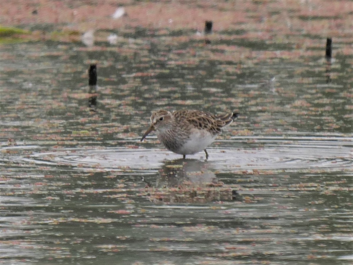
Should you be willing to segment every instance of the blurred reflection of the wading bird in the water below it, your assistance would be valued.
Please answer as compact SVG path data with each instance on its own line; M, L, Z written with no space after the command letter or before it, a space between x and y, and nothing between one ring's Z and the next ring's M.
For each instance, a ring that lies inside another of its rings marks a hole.
M230 185L217 179L210 163L197 159L166 161L156 185L148 187L150 199L162 203L206 203L238 199Z

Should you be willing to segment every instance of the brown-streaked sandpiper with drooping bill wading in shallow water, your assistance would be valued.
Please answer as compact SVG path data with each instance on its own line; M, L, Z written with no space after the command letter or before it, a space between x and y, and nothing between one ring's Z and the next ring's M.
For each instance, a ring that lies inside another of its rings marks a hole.
M157 131L158 140L170 151L189 154L205 151L206 159L209 146L222 133L222 128L238 116L238 113L228 112L214 115L198 110L178 110L169 112L158 110L151 116L151 126L143 134L141 141L151 132Z

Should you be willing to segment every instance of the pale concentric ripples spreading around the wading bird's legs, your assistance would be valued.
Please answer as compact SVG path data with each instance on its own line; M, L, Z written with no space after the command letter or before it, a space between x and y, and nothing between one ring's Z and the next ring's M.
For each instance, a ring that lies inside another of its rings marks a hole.
M257 139L261 147L249 148L244 139L222 141L208 149L208 162L214 169L279 169L300 170L327 168L330 171L353 169L351 139ZM247 140L249 141L249 139ZM27 162L44 165L99 167L111 170L128 167L131 170L156 170L165 160L180 159L164 148L160 149L61 149L35 153ZM204 159L203 152L187 158Z

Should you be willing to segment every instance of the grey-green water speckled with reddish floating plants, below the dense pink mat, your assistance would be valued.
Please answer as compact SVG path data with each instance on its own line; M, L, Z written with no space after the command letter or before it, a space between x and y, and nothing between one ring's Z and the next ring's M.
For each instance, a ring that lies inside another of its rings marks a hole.
M0 263L352 264L353 54L149 34L0 46ZM158 108L240 116L183 160Z

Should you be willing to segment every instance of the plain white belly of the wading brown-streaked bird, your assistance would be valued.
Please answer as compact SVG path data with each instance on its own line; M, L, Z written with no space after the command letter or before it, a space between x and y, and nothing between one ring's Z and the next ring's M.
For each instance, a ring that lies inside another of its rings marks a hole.
M217 137L202 130L195 130L190 135L190 138L177 150L175 153L179 154L195 154L204 150Z

